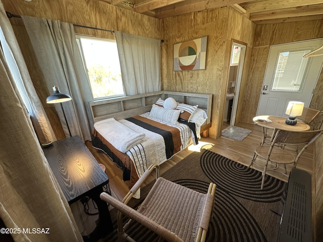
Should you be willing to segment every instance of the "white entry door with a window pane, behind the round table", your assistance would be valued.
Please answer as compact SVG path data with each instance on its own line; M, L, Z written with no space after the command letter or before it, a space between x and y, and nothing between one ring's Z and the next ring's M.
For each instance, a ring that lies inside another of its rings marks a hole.
M322 44L323 39L316 39L271 46L257 116L287 116L289 101L301 101L308 107L321 72L323 55L303 55Z

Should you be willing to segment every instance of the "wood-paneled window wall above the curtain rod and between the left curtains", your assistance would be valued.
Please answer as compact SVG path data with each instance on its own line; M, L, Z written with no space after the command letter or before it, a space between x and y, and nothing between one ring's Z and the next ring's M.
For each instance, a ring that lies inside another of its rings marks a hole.
M25 2L20 0L3 0L6 11L16 15L26 15L52 20L60 20L78 25L96 27L107 30L122 31L135 35L161 39L163 28L160 21L138 13L127 11L110 4L92 0L36 0ZM10 19L18 43L24 55L36 92L42 101L48 119L57 139L65 138L62 125L54 104L47 104L46 97L52 94L44 84L43 74L35 57L28 34L20 18ZM77 34L98 38L115 39L111 32L75 27Z

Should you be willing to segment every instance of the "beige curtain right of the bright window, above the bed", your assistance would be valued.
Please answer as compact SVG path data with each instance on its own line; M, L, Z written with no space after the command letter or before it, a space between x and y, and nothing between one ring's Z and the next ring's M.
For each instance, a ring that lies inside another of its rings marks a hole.
M115 32L125 95L161 90L160 40Z

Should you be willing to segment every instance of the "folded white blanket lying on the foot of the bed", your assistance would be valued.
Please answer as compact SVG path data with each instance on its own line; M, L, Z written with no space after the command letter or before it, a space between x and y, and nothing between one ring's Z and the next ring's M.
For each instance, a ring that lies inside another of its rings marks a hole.
M94 129L99 132L107 142L123 153L126 153L130 148L139 144L145 138L145 134L133 131L113 117L96 122L94 124Z

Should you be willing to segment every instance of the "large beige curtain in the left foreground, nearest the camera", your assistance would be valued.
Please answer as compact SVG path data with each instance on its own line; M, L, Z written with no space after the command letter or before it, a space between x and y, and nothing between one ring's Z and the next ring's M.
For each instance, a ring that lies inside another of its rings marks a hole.
M0 15L2 20L6 15L2 3ZM7 27L3 22L0 26L5 32ZM2 50L0 116L0 218L8 228L20 231L11 234L13 239L82 241L71 209L44 157ZM48 228L49 233L24 232L24 229L32 231L33 228Z

